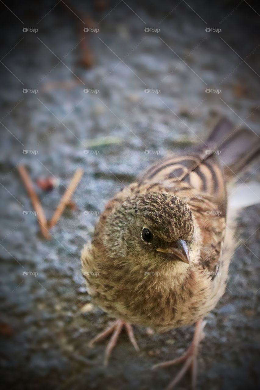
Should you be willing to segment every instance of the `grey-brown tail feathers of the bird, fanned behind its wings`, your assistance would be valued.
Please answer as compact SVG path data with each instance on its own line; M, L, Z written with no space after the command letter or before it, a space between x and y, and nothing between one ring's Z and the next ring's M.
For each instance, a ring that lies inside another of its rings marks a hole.
M260 137L248 128L235 128L223 118L208 137L209 147L218 151L226 181L231 181L260 156Z

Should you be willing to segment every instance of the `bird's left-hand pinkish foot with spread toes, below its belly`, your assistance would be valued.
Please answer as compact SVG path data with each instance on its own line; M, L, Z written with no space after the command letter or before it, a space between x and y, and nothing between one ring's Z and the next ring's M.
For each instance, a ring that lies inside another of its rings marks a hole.
M112 325L110 325L107 329L105 329L103 332L99 333L96 337L94 337L93 340L89 342L89 347L93 347L94 343L102 341L107 336L109 336L111 333L111 337L109 340L109 343L107 344L107 347L105 349L105 356L104 356L104 365L107 366L109 362L110 355L112 353L112 350L116 346L116 343L118 341L119 334L121 333L123 327L125 327L126 333L128 335L128 338L131 342L131 344L134 346L134 349L136 351L139 351L139 346L135 340L134 331L130 324L127 322L119 319L115 321Z

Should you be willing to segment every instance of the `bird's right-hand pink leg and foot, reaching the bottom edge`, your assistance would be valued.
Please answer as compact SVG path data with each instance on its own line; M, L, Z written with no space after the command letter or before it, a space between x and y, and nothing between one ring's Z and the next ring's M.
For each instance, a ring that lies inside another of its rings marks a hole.
M199 320L196 323L196 328L193 336L193 340L191 343L191 346L187 349L187 351L180 356L179 358L176 358L174 360L169 360L168 362L162 362L154 365L152 368L165 368L169 367L171 365L175 365L178 363L183 363L182 369L178 372L178 374L175 376L173 381L169 383L166 390L172 390L177 383L180 382L180 380L183 378L185 373L191 369L191 375L192 375L192 388L195 389L196 386L196 377L197 377L197 356L198 356L198 347L200 341L204 337L203 328L205 326L206 322L202 319Z

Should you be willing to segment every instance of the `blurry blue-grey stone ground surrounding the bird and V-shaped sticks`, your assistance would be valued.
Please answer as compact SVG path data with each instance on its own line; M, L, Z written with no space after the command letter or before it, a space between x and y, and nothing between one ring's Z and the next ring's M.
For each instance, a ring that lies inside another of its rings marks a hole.
M217 117L259 134L260 7L194 0L1 1L1 320L3 389L160 390L192 327L122 335L105 369L110 321L93 307L80 250L104 204L150 163L207 138ZM42 236L17 170L28 170L50 220ZM239 183L259 181L258 165ZM239 218L228 288L207 317L199 389L260 386L260 206ZM189 388L186 377L177 388Z

